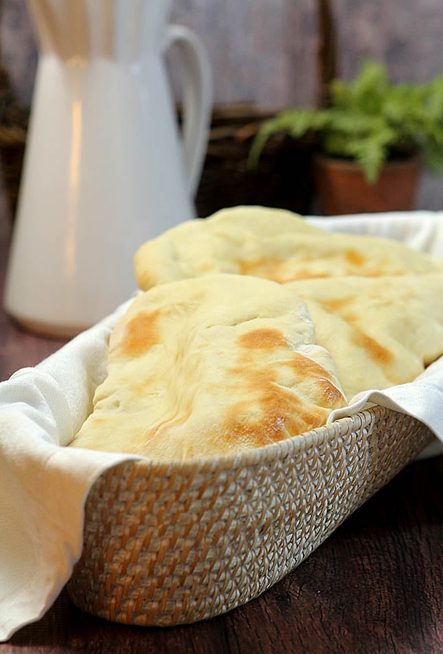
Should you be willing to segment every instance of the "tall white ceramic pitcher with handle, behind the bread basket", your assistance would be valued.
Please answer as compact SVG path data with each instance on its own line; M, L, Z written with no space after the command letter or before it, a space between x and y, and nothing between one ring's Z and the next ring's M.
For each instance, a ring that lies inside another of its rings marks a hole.
M5 308L72 336L135 290L144 241L194 217L212 109L200 39L166 0L28 0L39 45ZM181 48L183 133L163 54Z

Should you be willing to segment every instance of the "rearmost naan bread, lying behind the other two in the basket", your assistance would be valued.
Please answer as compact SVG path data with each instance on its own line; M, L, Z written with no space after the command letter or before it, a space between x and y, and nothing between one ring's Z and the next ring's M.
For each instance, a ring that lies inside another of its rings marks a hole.
M443 272L443 262L388 239L330 233L282 209L240 206L187 221L135 254L139 287L205 274L295 279Z

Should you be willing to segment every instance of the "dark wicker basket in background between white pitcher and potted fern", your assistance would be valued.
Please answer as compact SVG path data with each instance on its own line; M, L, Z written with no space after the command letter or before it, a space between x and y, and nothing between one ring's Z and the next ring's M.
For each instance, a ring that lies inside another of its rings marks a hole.
M248 168L253 137L262 121L274 116L275 111L254 105L223 105L214 109L196 196L199 216L207 217L218 209L239 204L312 213L313 146L308 139L271 138L258 167Z

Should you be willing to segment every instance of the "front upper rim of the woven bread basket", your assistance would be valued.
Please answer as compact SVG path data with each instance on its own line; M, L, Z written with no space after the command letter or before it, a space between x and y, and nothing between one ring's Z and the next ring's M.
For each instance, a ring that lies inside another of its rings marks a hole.
M119 472L120 469L126 467L133 468L134 474L137 476L153 473L162 477L171 472L181 475L195 475L196 473L202 472L214 472L214 470L220 472L222 470L249 468L257 466L260 463L277 461L284 457L303 453L312 446L317 446L333 438L339 438L345 434L352 433L354 430L365 428L385 413L408 415L379 404L374 404L370 408L365 408L351 416L339 418L334 422L321 425L302 434L290 436L281 441L257 448L202 458L149 459L148 457L135 456L110 466L103 474L106 475L110 472L111 474L115 474L115 472ZM411 415L409 417L418 420Z

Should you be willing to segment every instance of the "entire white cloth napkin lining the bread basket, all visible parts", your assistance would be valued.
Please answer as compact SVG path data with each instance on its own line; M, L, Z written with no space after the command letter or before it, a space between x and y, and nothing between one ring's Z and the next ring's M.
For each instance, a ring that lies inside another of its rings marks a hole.
M443 257L443 215L436 213L312 221L396 238ZM0 642L41 618L71 576L81 554L84 501L95 479L136 458L64 447L90 411L106 373L107 339L127 305L36 368L0 384ZM411 384L356 397L332 419L366 402L411 413L443 440L442 360Z

